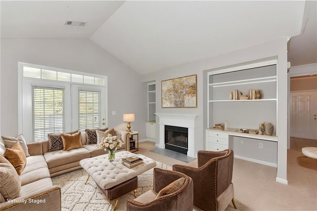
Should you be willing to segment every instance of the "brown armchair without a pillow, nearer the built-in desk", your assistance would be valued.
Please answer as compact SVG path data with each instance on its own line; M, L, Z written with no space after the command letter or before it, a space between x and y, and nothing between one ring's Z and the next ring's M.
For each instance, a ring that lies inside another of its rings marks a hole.
M233 198L233 151L198 151L198 159L184 165L173 165L173 170L192 178L194 206L201 210L225 210Z

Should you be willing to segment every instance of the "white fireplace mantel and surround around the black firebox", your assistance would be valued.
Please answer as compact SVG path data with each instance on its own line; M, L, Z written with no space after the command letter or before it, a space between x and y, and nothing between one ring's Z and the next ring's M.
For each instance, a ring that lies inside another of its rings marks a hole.
M195 119L193 114L155 113L159 117L159 148L165 148L165 125L188 128L188 151L187 156L195 157Z

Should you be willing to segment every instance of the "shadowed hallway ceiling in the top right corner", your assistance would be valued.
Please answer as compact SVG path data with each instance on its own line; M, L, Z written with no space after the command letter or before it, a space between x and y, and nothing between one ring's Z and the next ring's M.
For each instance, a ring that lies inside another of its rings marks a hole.
M290 39L288 61L291 66L317 63L317 2L309 1L304 32Z

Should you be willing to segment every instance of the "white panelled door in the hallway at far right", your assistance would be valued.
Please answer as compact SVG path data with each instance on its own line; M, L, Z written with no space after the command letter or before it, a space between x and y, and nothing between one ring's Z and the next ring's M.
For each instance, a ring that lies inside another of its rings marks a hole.
M317 92L290 94L291 136L317 139Z

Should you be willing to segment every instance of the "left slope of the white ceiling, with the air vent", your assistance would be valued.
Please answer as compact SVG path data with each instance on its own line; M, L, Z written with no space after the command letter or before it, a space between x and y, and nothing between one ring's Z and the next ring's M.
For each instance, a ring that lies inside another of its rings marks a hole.
M1 1L1 38L88 38L124 1ZM65 22L87 22L67 26Z

